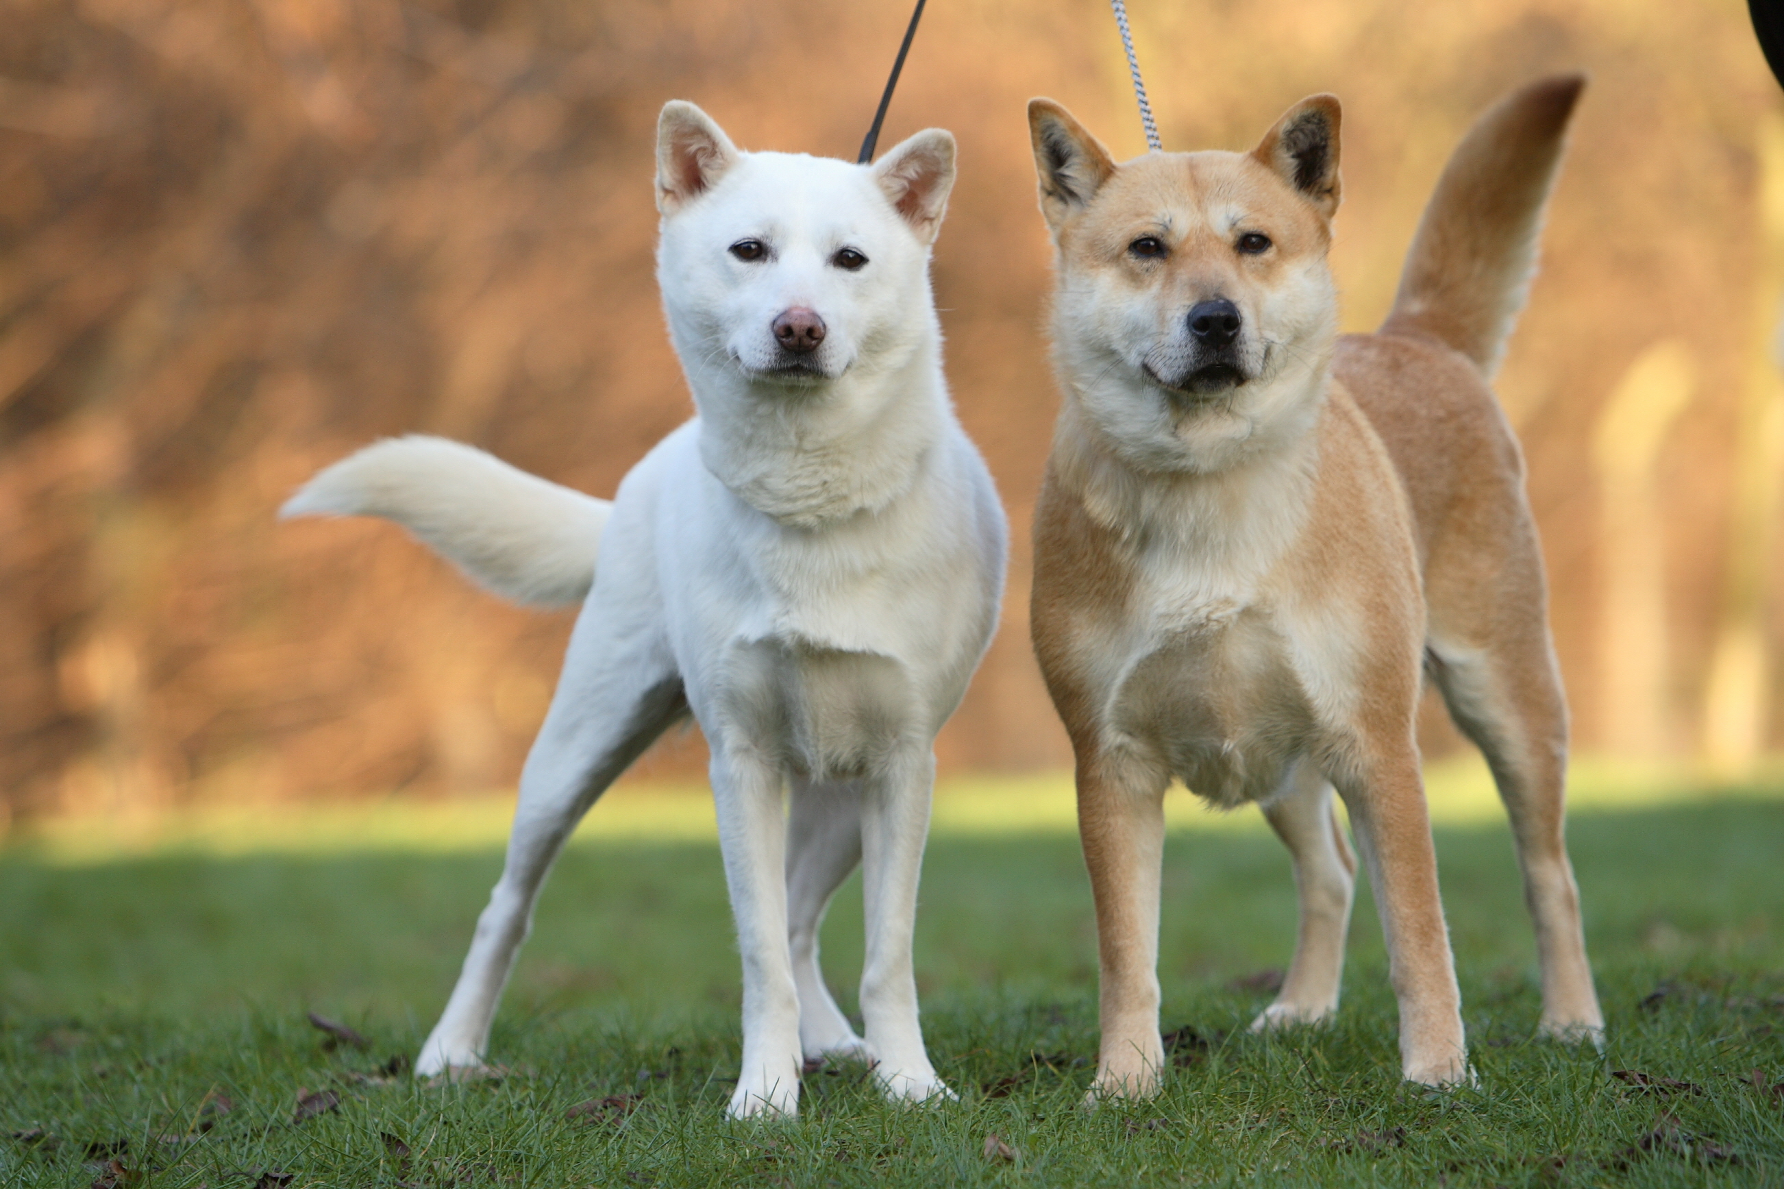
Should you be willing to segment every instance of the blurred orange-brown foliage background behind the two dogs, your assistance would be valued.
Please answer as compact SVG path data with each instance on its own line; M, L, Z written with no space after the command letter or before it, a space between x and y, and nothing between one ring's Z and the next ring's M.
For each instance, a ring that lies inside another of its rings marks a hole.
M1345 104L1345 325L1386 311L1466 121L1584 68L1500 393L1588 750L1784 739L1784 102L1736 0L1131 0L1167 148ZM908 7L9 0L0 14L0 821L512 784L567 614L398 530L275 523L409 430L598 495L690 412L651 275L653 127L851 157ZM1144 150L1103 0L935 0L881 146L956 132L947 368L1013 521L953 771L1069 764L1028 648L1056 396L1022 107ZM1438 712L1427 748L1454 746ZM703 766L681 732L646 775Z

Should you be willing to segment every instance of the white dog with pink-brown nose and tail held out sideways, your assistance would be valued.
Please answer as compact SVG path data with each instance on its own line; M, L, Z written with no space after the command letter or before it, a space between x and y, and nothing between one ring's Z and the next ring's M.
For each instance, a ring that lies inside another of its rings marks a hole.
M860 1053L892 1096L947 1094L917 1023L917 871L935 732L997 623L1008 534L942 378L928 264L953 180L942 130L869 168L746 154L669 104L657 277L698 416L612 503L403 437L285 505L387 516L521 602L585 598L507 866L417 1073L482 1062L566 836L692 711L744 966L731 1114L792 1114L801 1055ZM865 1041L817 964L824 907L856 862Z

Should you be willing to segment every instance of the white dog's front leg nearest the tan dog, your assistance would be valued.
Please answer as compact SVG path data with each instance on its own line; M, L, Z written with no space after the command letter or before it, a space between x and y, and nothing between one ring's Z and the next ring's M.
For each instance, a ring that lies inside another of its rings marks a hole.
M903 757L862 787L862 898L867 960L862 968L862 1018L874 1073L894 1098L953 1098L929 1064L917 1021L912 941L917 928L917 878L929 834L935 757Z

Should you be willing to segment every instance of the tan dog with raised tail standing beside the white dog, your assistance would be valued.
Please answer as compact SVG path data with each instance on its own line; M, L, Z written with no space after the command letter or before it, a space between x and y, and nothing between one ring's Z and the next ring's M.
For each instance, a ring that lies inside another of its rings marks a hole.
M1058 248L1065 391L1035 514L1035 652L1078 755L1095 889L1094 1094L1158 1085L1158 898L1172 778L1258 802L1295 861L1301 934L1258 1018L1338 1005L1356 859L1400 1003L1400 1060L1468 1077L1420 780L1420 669L1493 769L1541 957L1541 1030L1598 1037L1563 843L1566 702L1524 459L1488 377L1524 302L1582 79L1468 132L1381 330L1338 337L1327 270L1338 100L1251 154L1115 164L1029 104Z

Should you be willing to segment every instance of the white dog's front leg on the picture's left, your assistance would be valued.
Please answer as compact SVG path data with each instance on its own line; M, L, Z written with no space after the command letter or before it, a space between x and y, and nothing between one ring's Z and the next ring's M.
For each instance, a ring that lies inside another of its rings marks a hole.
M724 878L744 960L744 1068L731 1118L799 1110L799 993L787 944L787 819L778 764L712 748Z

